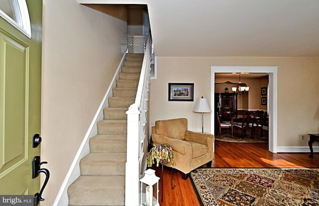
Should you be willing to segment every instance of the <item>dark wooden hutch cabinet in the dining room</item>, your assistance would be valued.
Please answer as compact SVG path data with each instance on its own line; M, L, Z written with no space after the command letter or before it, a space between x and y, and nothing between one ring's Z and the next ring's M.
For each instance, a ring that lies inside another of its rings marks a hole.
M221 121L226 120L225 116L222 115L225 111L227 111L229 117L237 117L237 94L215 93L215 111L218 112Z

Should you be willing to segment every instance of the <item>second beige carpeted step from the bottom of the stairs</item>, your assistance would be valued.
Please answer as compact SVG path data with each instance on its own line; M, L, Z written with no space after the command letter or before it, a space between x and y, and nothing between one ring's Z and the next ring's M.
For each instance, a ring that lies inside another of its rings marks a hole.
M81 175L125 175L126 152L89 153L80 161Z

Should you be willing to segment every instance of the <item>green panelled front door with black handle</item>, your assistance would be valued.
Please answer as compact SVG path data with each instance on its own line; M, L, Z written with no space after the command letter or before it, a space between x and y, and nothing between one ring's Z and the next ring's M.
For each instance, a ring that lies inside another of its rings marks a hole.
M0 17L0 195L34 195L32 137L40 134L42 1L26 0L31 39Z

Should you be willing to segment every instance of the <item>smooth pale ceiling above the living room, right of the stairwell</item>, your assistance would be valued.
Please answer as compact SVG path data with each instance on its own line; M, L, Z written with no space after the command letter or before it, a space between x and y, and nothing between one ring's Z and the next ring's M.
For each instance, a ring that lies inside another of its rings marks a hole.
M77 0L147 4L156 56L319 57L319 0Z

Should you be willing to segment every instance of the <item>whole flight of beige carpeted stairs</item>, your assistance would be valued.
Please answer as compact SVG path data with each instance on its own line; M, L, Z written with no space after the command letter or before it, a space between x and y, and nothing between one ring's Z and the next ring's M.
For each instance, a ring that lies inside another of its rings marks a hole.
M90 139L90 153L80 161L81 176L68 188L69 206L124 206L127 115L135 102L144 54L128 54Z

